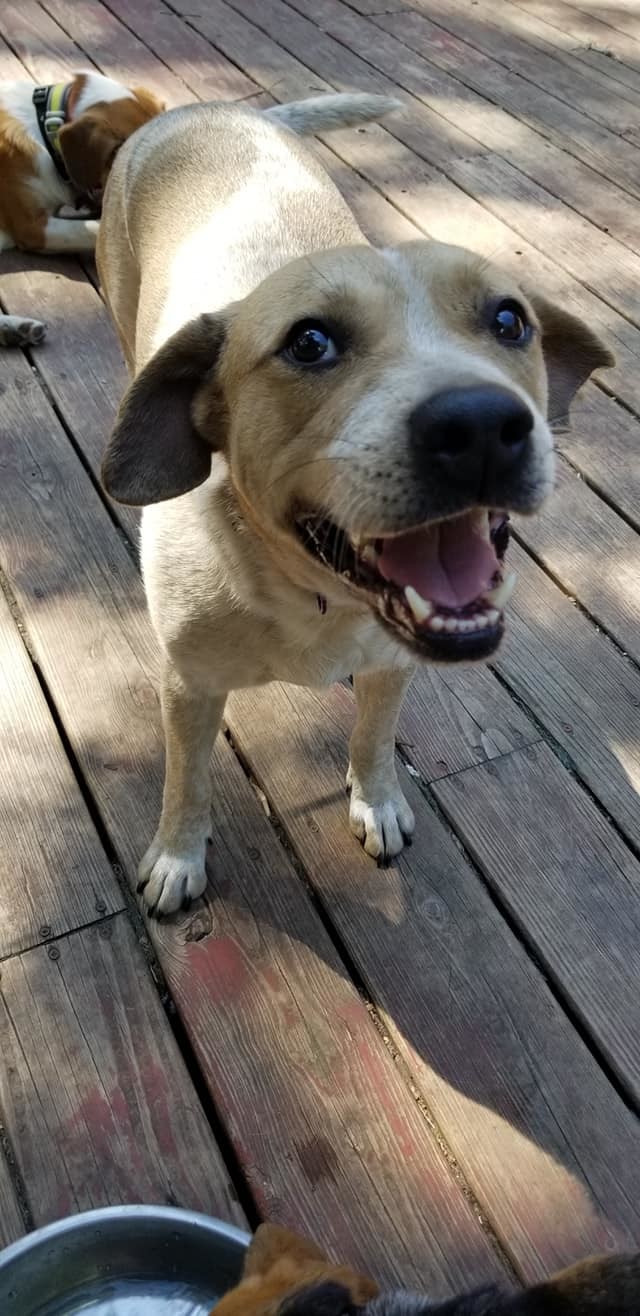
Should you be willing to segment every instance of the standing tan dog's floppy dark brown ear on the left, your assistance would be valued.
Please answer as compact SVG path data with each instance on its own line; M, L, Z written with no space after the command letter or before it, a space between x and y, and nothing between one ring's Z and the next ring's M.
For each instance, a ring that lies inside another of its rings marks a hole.
M221 316L203 315L155 353L124 396L103 462L119 503L144 507L196 488L224 446L225 416L215 374L225 337ZM204 383L205 405L195 407ZM203 424L205 417L205 426Z

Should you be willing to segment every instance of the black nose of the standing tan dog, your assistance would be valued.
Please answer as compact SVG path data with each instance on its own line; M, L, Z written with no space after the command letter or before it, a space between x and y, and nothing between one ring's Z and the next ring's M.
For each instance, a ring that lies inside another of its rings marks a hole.
M411 412L410 445L420 479L437 474L482 500L527 459L533 416L508 388L448 388Z

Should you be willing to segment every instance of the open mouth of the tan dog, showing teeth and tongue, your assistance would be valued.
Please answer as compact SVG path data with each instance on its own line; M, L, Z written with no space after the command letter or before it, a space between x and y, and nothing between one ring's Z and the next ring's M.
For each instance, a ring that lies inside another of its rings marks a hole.
M474 509L386 538L354 541L333 521L303 515L308 553L361 591L396 634L425 657L486 658L500 642L515 575L504 574L506 512Z

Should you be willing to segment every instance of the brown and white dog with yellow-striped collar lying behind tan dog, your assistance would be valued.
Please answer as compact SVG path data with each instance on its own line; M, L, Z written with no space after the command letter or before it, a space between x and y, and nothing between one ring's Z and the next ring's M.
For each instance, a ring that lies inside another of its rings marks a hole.
M137 128L165 107L142 87L129 88L97 72L34 88L0 83L0 251L92 251L99 209L115 155ZM63 208L75 217L62 218ZM38 342L37 320L0 316L0 345Z

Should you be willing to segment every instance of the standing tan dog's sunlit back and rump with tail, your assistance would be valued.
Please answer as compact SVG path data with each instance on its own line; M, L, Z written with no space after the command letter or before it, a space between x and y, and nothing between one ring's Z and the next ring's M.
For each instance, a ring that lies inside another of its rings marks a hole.
M362 241L299 134L379 118L395 104L345 95L265 113L187 105L147 124L115 163L97 245L129 366L140 368L186 320L244 296L286 261Z

